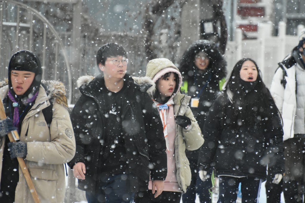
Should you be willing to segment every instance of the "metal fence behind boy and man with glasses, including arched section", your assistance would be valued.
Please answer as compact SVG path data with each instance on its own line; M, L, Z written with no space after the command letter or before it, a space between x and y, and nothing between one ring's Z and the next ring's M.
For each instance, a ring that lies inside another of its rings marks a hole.
M130 63L127 72L143 75L147 64L144 37L141 34L96 32L96 26L82 23L81 39L77 42L80 53L79 69L71 66L69 56L74 54L71 45L72 31L57 32L53 25L37 10L16 1L0 0L0 80L7 77L11 56L18 50L27 49L41 60L44 80L60 80L67 89L69 104L79 98L76 80L82 75L99 73L95 61L98 48L106 43L122 45ZM84 18L84 16L82 16ZM75 43L75 42L74 42Z

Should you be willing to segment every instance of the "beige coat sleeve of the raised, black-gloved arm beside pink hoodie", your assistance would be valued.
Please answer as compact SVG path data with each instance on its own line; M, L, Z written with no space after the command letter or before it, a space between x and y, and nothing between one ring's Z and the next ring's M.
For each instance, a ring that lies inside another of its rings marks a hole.
M203 135L201 134L201 130L199 125L192 113L192 110L187 107L187 110L184 114L191 119L191 126L187 129L182 128L182 135L185 140L185 148L189 151L199 149L204 142ZM181 126L178 126L179 128Z

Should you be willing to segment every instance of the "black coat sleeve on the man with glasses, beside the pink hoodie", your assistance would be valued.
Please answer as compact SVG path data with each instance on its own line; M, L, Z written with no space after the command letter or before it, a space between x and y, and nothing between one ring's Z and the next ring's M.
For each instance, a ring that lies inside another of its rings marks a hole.
M142 112L145 122L145 132L149 149L149 164L151 180L165 180L167 175L166 143L160 115L152 99L143 93Z

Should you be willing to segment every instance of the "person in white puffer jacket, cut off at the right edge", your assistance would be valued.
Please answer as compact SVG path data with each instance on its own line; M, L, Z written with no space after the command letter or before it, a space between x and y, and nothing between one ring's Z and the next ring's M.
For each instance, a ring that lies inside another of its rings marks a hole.
M272 184L268 175L267 202L275 199L279 202L282 191L286 202L302 202L305 183L305 29L299 35L299 44L278 65L270 91L283 119L285 174L279 185Z

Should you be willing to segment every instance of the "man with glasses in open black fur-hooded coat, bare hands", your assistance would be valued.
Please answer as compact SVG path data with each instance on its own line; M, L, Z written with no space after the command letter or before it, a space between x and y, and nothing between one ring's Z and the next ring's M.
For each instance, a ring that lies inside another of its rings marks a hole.
M154 83L126 73L127 53L116 43L99 48L96 63L102 74L77 80L81 97L71 112L77 150L69 166L78 188L88 203L129 203L150 177L157 197L167 165L161 119L146 93Z

